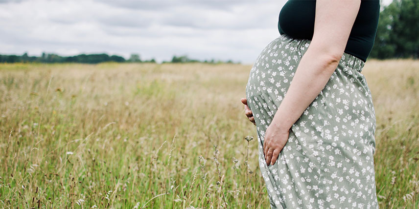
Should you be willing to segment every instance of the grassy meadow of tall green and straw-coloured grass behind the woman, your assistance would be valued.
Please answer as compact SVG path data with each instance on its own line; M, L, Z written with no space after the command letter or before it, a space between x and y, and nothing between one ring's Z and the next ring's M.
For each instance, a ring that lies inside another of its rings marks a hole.
M0 208L270 208L240 103L250 68L0 64ZM418 209L419 61L362 73L380 209Z

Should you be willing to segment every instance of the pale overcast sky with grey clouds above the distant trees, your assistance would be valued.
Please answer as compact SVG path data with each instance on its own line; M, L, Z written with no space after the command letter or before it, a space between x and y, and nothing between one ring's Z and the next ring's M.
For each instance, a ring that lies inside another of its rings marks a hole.
M0 54L253 63L286 0L0 0ZM391 0L381 0L388 4Z

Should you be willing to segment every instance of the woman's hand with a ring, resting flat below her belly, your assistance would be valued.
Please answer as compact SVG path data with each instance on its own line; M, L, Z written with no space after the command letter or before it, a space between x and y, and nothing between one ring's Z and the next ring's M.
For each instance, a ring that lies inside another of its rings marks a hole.
M265 153L266 164L274 165L277 162L279 152L288 141L289 130L280 128L275 122L266 128L265 140L263 141L263 152Z

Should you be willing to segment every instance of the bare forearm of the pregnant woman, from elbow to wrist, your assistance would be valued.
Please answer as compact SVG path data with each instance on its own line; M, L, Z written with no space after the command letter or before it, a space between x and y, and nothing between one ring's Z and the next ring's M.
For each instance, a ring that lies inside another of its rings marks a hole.
M300 118L304 110L319 95L336 69L339 60L331 56L322 56L319 50L310 47L304 53L292 82L272 124L289 131L291 126Z

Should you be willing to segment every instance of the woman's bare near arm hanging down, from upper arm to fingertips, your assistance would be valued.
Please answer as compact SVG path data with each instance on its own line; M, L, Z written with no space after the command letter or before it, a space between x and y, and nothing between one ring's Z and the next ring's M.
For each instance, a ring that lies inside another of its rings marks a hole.
M361 0L317 0L314 34L265 134L266 163L276 162L289 129L319 95L346 47Z

